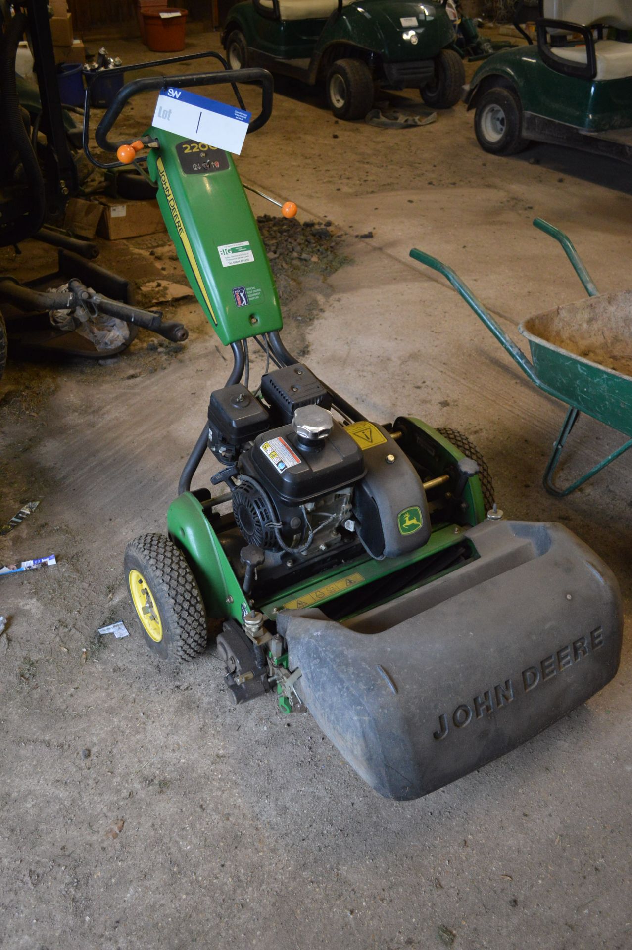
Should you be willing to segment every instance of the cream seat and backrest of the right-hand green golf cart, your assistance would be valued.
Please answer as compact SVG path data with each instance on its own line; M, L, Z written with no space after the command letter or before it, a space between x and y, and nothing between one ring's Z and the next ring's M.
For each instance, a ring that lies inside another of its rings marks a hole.
M567 32L552 28L550 21L560 20L578 26L632 29L632 9L627 0L545 0L544 14L550 34ZM597 80L623 79L632 76L632 43L618 40L594 41ZM569 65L587 66L588 54L584 44L556 46L551 52Z

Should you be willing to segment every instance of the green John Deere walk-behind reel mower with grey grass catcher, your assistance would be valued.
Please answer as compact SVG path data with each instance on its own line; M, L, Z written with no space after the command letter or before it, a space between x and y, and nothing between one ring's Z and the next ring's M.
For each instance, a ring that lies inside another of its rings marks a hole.
M164 83L124 85L97 129L102 149L122 144L107 134L124 103ZM263 69L169 79L218 83L259 83L250 128L267 121ZM603 561L559 524L503 519L487 466L459 433L408 408L367 418L288 352L231 155L157 127L119 154L140 161L144 146L182 267L233 357L166 533L125 552L147 646L191 660L219 624L210 647L232 701L309 711L396 799L484 766L602 689L622 634ZM270 364L255 385L244 374L252 346ZM203 459L206 485L192 489Z

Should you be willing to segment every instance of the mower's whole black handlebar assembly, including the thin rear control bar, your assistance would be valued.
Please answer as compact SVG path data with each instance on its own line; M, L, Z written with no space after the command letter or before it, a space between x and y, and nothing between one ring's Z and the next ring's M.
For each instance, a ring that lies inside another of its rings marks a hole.
M200 55L200 54L198 54ZM116 96L109 104L105 111L101 122L98 124L95 139L100 148L105 152L116 152L118 147L122 144L125 144L128 140L122 142L111 142L107 135L112 128L113 124L121 115L124 105L127 103L132 96L136 96L141 92L147 92L151 89L163 89L166 86L171 86L174 88L184 88L196 85L220 85L229 83L233 86L239 106L245 109L241 96L239 95L239 89L237 88L237 83L259 83L261 85L261 110L259 115L253 119L251 123L248 124L248 132L256 132L261 128L272 115L272 100L274 95L274 80L271 73L267 69L251 68L251 69L228 69L228 64L225 62L223 57L217 53L202 53L203 56L214 56L219 59L222 65L224 66L223 70L218 70L214 72L200 72L200 73L185 73L181 76L144 76L141 79L133 79L130 83L126 83L122 89L117 92ZM156 66L162 65L163 63L169 62L180 62L182 59L189 58L198 58L195 57L174 57L172 60L163 60L159 63L144 63L138 64L138 66L132 66L131 68L146 68L146 66ZM129 70L130 66L120 66L118 67L122 72L126 69ZM109 69L108 75L110 73L116 72L117 68ZM83 135L83 146L86 153L86 158L92 162L92 164L97 165L99 168L120 168L124 165L123 161L99 161L95 158L94 155L90 152L89 149L89 115L90 115L90 89L89 85L86 88L86 111L84 115L84 135ZM140 140L142 141L142 140ZM143 160L143 156L139 156L139 160Z

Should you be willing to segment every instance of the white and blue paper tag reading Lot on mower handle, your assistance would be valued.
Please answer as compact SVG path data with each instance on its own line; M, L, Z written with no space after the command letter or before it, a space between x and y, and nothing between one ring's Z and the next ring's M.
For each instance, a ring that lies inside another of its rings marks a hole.
M251 114L234 105L169 86L158 97L152 124L194 142L207 142L240 155Z

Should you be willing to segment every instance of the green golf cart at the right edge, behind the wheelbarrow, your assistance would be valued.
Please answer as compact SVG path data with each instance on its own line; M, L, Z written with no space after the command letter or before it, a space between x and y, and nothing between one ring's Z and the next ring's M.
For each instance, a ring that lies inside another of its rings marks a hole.
M535 17L537 45L496 53L466 86L479 144L514 155L552 142L631 161L632 4L540 0Z

